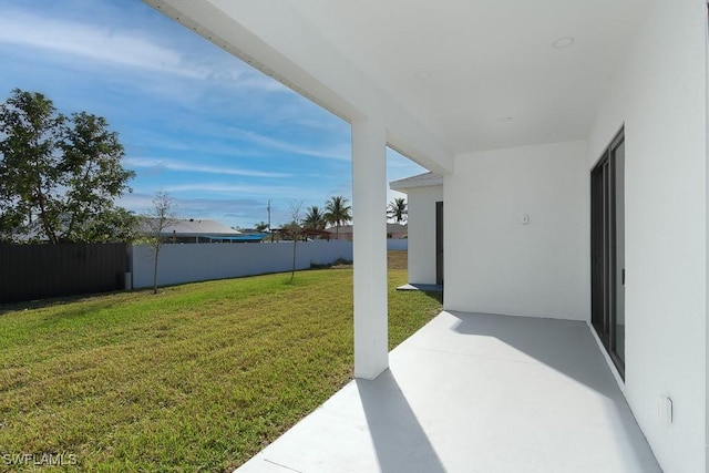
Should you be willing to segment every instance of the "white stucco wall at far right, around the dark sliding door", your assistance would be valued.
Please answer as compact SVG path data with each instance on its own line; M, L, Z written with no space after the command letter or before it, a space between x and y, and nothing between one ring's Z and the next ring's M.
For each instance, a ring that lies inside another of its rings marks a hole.
M589 137L625 123L626 381L660 465L707 472L707 7L648 2ZM661 397L675 419L657 411Z

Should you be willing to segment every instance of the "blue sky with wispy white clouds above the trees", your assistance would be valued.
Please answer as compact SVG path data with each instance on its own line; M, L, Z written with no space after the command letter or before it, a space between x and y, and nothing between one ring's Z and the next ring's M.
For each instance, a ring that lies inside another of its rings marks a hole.
M347 122L140 0L0 0L0 101L19 88L106 117L137 173L124 207L145 213L162 188L181 217L251 227L269 198L274 226L294 202L351 199ZM391 150L387 168L425 172Z

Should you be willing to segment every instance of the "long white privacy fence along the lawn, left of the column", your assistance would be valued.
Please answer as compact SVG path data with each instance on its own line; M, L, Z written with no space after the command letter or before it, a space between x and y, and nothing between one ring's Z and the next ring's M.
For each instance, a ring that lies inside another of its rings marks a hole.
M328 265L352 260L352 241L299 241L296 269L311 264ZM153 249L133 246L131 255L133 288L153 285ZM160 286L209 279L234 278L288 271L292 268L292 241L260 244L163 245L160 250Z

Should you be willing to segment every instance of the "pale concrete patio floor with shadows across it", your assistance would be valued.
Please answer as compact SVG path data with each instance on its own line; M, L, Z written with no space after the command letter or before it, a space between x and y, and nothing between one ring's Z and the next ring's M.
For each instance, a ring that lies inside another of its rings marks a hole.
M237 471L661 470L586 323L442 312Z

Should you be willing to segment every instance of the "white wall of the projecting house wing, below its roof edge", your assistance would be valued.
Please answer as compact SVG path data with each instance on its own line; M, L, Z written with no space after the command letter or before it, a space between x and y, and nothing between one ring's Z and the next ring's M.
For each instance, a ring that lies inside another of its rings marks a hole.
M435 284L435 203L443 200L443 186L410 188L407 197L409 282Z

